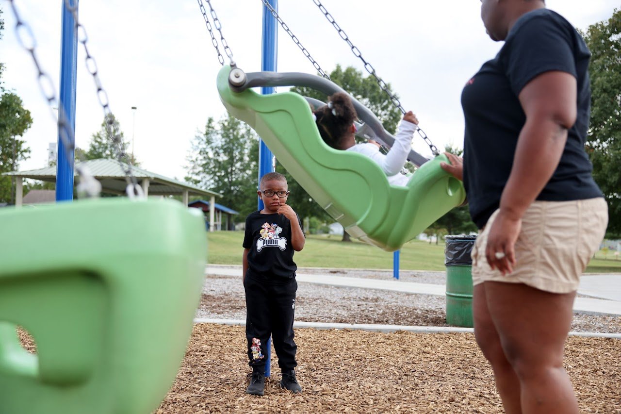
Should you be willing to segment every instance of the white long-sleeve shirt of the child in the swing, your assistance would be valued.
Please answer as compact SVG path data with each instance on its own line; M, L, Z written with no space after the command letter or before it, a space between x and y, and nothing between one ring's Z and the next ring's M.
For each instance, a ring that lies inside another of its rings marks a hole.
M392 185L405 186L410 178L402 174L401 169L406 163L407 155L410 154L410 149L412 149L412 137L414 137L414 132L416 132L417 129L418 126L416 124L402 119L397 127L394 144L392 144L391 149L386 155L379 152L379 147L377 145L367 142L356 144L347 150L366 155L374 162L378 163L382 171L388 176L388 182Z

